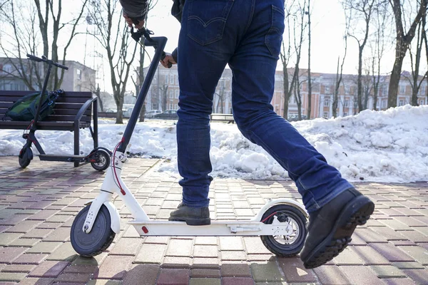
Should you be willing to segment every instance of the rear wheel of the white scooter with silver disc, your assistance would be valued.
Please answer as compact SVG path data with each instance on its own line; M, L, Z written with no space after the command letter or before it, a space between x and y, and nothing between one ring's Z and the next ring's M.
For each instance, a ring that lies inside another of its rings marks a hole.
M298 254L305 244L307 235L306 217L300 209L289 204L277 204L267 209L262 222L272 224L280 222L288 227L286 235L260 236L265 247L278 257L292 257Z

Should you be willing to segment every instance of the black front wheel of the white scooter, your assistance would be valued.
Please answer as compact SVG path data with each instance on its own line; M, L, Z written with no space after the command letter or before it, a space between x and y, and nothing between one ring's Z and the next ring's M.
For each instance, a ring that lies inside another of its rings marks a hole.
M89 207L86 206L78 212L71 226L70 239L73 249L82 257L95 257L101 254L113 242L116 234L111 229L111 217L106 206L102 205L98 211L91 232L83 232L83 224L88 214Z

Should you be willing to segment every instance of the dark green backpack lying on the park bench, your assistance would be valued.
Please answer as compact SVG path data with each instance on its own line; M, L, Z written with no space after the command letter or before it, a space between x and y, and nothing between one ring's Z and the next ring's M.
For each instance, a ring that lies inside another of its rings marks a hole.
M44 101L41 103L39 120L43 120L47 116L54 113L55 101L59 95L64 93L63 90L47 92L44 95ZM25 95L17 100L14 105L11 105L6 111L4 117L9 117L12 120L31 121L36 116L37 106L39 105L40 92Z

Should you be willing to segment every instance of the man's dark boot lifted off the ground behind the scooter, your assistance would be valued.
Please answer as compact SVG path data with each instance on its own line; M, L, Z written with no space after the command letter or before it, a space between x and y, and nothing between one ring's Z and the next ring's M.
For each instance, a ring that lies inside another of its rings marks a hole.
M310 213L305 246L300 252L305 268L321 266L337 257L351 242L355 227L365 224L373 211L374 203L350 188Z

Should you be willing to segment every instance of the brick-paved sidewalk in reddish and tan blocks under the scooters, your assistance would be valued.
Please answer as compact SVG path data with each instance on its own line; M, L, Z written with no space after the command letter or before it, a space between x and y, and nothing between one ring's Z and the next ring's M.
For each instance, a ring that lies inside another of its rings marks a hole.
M123 178L150 217L166 219L180 202L175 177L158 160L131 159ZM428 284L428 184L362 183L376 203L366 227L325 266L276 258L259 237L138 237L117 199L121 233L103 254L78 257L69 242L73 217L96 197L103 173L90 165L40 162L26 170L0 157L0 285L9 284ZM249 219L265 199L298 198L289 181L215 179L211 217Z

